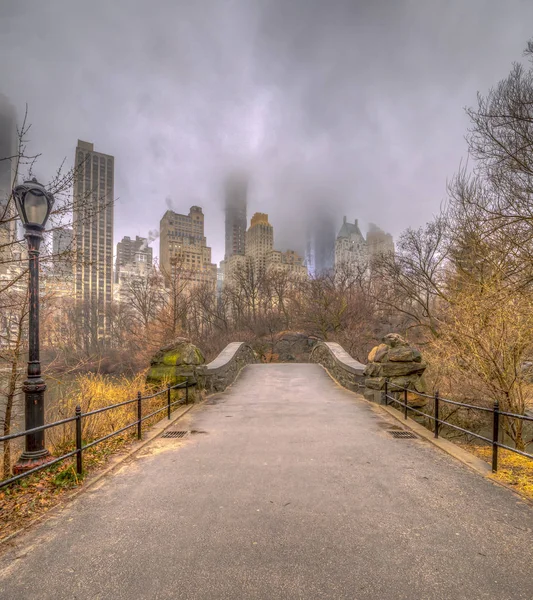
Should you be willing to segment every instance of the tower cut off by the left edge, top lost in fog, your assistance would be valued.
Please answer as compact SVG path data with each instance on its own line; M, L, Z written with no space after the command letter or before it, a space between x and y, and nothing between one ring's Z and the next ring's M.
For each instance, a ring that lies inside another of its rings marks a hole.
M16 210L11 190L18 168L17 116L15 108L0 94L0 275L12 267L16 239Z

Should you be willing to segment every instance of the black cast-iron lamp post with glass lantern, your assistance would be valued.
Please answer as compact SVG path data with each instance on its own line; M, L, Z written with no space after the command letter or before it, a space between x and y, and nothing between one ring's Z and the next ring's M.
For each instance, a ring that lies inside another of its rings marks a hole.
M25 428L44 425L44 392L39 361L39 247L54 197L33 178L13 190L15 205L24 225L29 258L29 350L28 377L22 389L25 394ZM46 462L48 450L44 445L44 430L26 436L25 450L13 468L15 473L28 471Z

